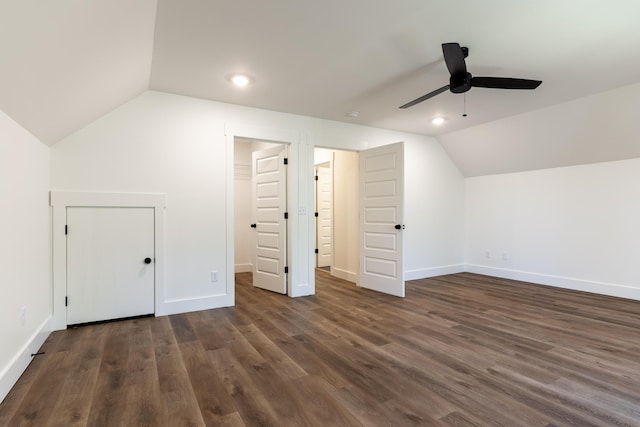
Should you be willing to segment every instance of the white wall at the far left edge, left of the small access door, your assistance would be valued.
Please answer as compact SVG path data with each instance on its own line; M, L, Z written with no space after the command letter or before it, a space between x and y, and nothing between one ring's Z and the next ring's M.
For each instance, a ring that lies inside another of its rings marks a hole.
M0 400L50 331L48 189L49 148L0 111Z

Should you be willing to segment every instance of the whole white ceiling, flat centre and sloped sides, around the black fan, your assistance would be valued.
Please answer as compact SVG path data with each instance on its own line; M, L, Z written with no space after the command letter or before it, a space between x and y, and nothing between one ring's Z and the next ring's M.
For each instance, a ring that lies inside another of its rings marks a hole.
M153 89L437 136L466 176L615 160L640 148L558 162L544 147L527 162L505 141L520 122L546 126L539 110L560 105L551 117L562 128L575 119L569 101L640 82L638 18L637 0L3 0L0 109L53 144ZM466 118L464 96L449 92L399 110L448 83L444 42L469 47L474 75L543 83L473 88ZM255 83L232 88L237 71ZM483 149L467 151L478 135Z

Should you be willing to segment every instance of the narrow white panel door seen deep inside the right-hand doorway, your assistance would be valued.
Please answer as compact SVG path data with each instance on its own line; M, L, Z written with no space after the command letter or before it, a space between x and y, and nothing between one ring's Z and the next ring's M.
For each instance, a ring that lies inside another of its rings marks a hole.
M331 163L316 167L317 267L330 267L333 258L333 171Z

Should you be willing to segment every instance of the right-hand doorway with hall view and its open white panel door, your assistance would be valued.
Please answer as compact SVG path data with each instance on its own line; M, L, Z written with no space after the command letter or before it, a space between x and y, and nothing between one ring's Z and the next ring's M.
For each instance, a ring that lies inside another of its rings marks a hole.
M404 297L404 144L360 152L316 148L316 170L327 164L333 173L331 275ZM320 200L322 188L316 185L316 189L316 200ZM325 222L319 212L317 219L316 253L320 255ZM322 267L320 256L316 266Z

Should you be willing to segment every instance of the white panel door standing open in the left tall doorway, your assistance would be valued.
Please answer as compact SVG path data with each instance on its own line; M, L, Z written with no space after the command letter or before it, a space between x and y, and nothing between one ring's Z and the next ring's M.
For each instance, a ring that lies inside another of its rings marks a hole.
M255 259L253 286L287 293L287 174L286 146L255 151L253 170L253 224Z

